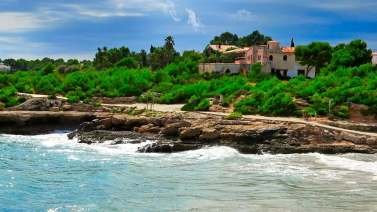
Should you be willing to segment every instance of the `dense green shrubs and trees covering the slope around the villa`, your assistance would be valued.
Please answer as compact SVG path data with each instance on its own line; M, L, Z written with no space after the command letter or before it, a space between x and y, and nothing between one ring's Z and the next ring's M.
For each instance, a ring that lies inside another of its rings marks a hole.
M210 43L247 46L271 40L255 31L238 38L225 32ZM128 48L98 48L93 61L44 58L41 61L23 61L24 66L13 66L12 73L0 74L0 106L14 106L23 101L16 92L46 95L64 95L69 101L90 97L138 96L145 101L150 92L158 92L157 103L186 103L187 111L207 111L208 98L224 96L222 106L229 106L240 95L247 96L233 104L236 114L261 114L291 116L300 115L302 109L310 113L326 115L331 100L332 112L347 118L346 102L369 106L365 115L377 114L377 72L371 64L371 50L362 40L330 46L325 42L312 42L297 46L295 55L308 70L315 67L317 76L309 79L303 75L281 81L263 73L261 64L253 64L247 77L243 75L198 74L198 63L225 61L220 52L185 51L179 54L174 49L173 37L168 36L161 47L150 47L149 53L130 52ZM43 62L42 62L43 61ZM35 65L39 64L39 65ZM43 65L40 65L43 64ZM146 95L142 95L143 93ZM299 108L296 98L310 103L308 108ZM218 100L215 100L218 101Z

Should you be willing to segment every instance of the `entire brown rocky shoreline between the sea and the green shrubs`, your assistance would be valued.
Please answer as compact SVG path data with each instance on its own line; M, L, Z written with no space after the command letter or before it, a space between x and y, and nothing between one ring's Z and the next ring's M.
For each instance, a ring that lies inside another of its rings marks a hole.
M228 146L244 154L377 152L376 138L329 131L308 124L257 121L191 112L157 112L129 107L96 107L35 98L0 112L0 132L34 135L75 130L79 143L145 143L137 152L172 153Z

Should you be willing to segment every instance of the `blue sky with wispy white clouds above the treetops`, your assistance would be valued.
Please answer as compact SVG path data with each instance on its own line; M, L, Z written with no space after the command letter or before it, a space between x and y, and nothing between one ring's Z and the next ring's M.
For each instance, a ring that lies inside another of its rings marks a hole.
M92 60L99 46L202 51L222 32L281 45L355 38L377 50L376 0L0 0L0 58Z

